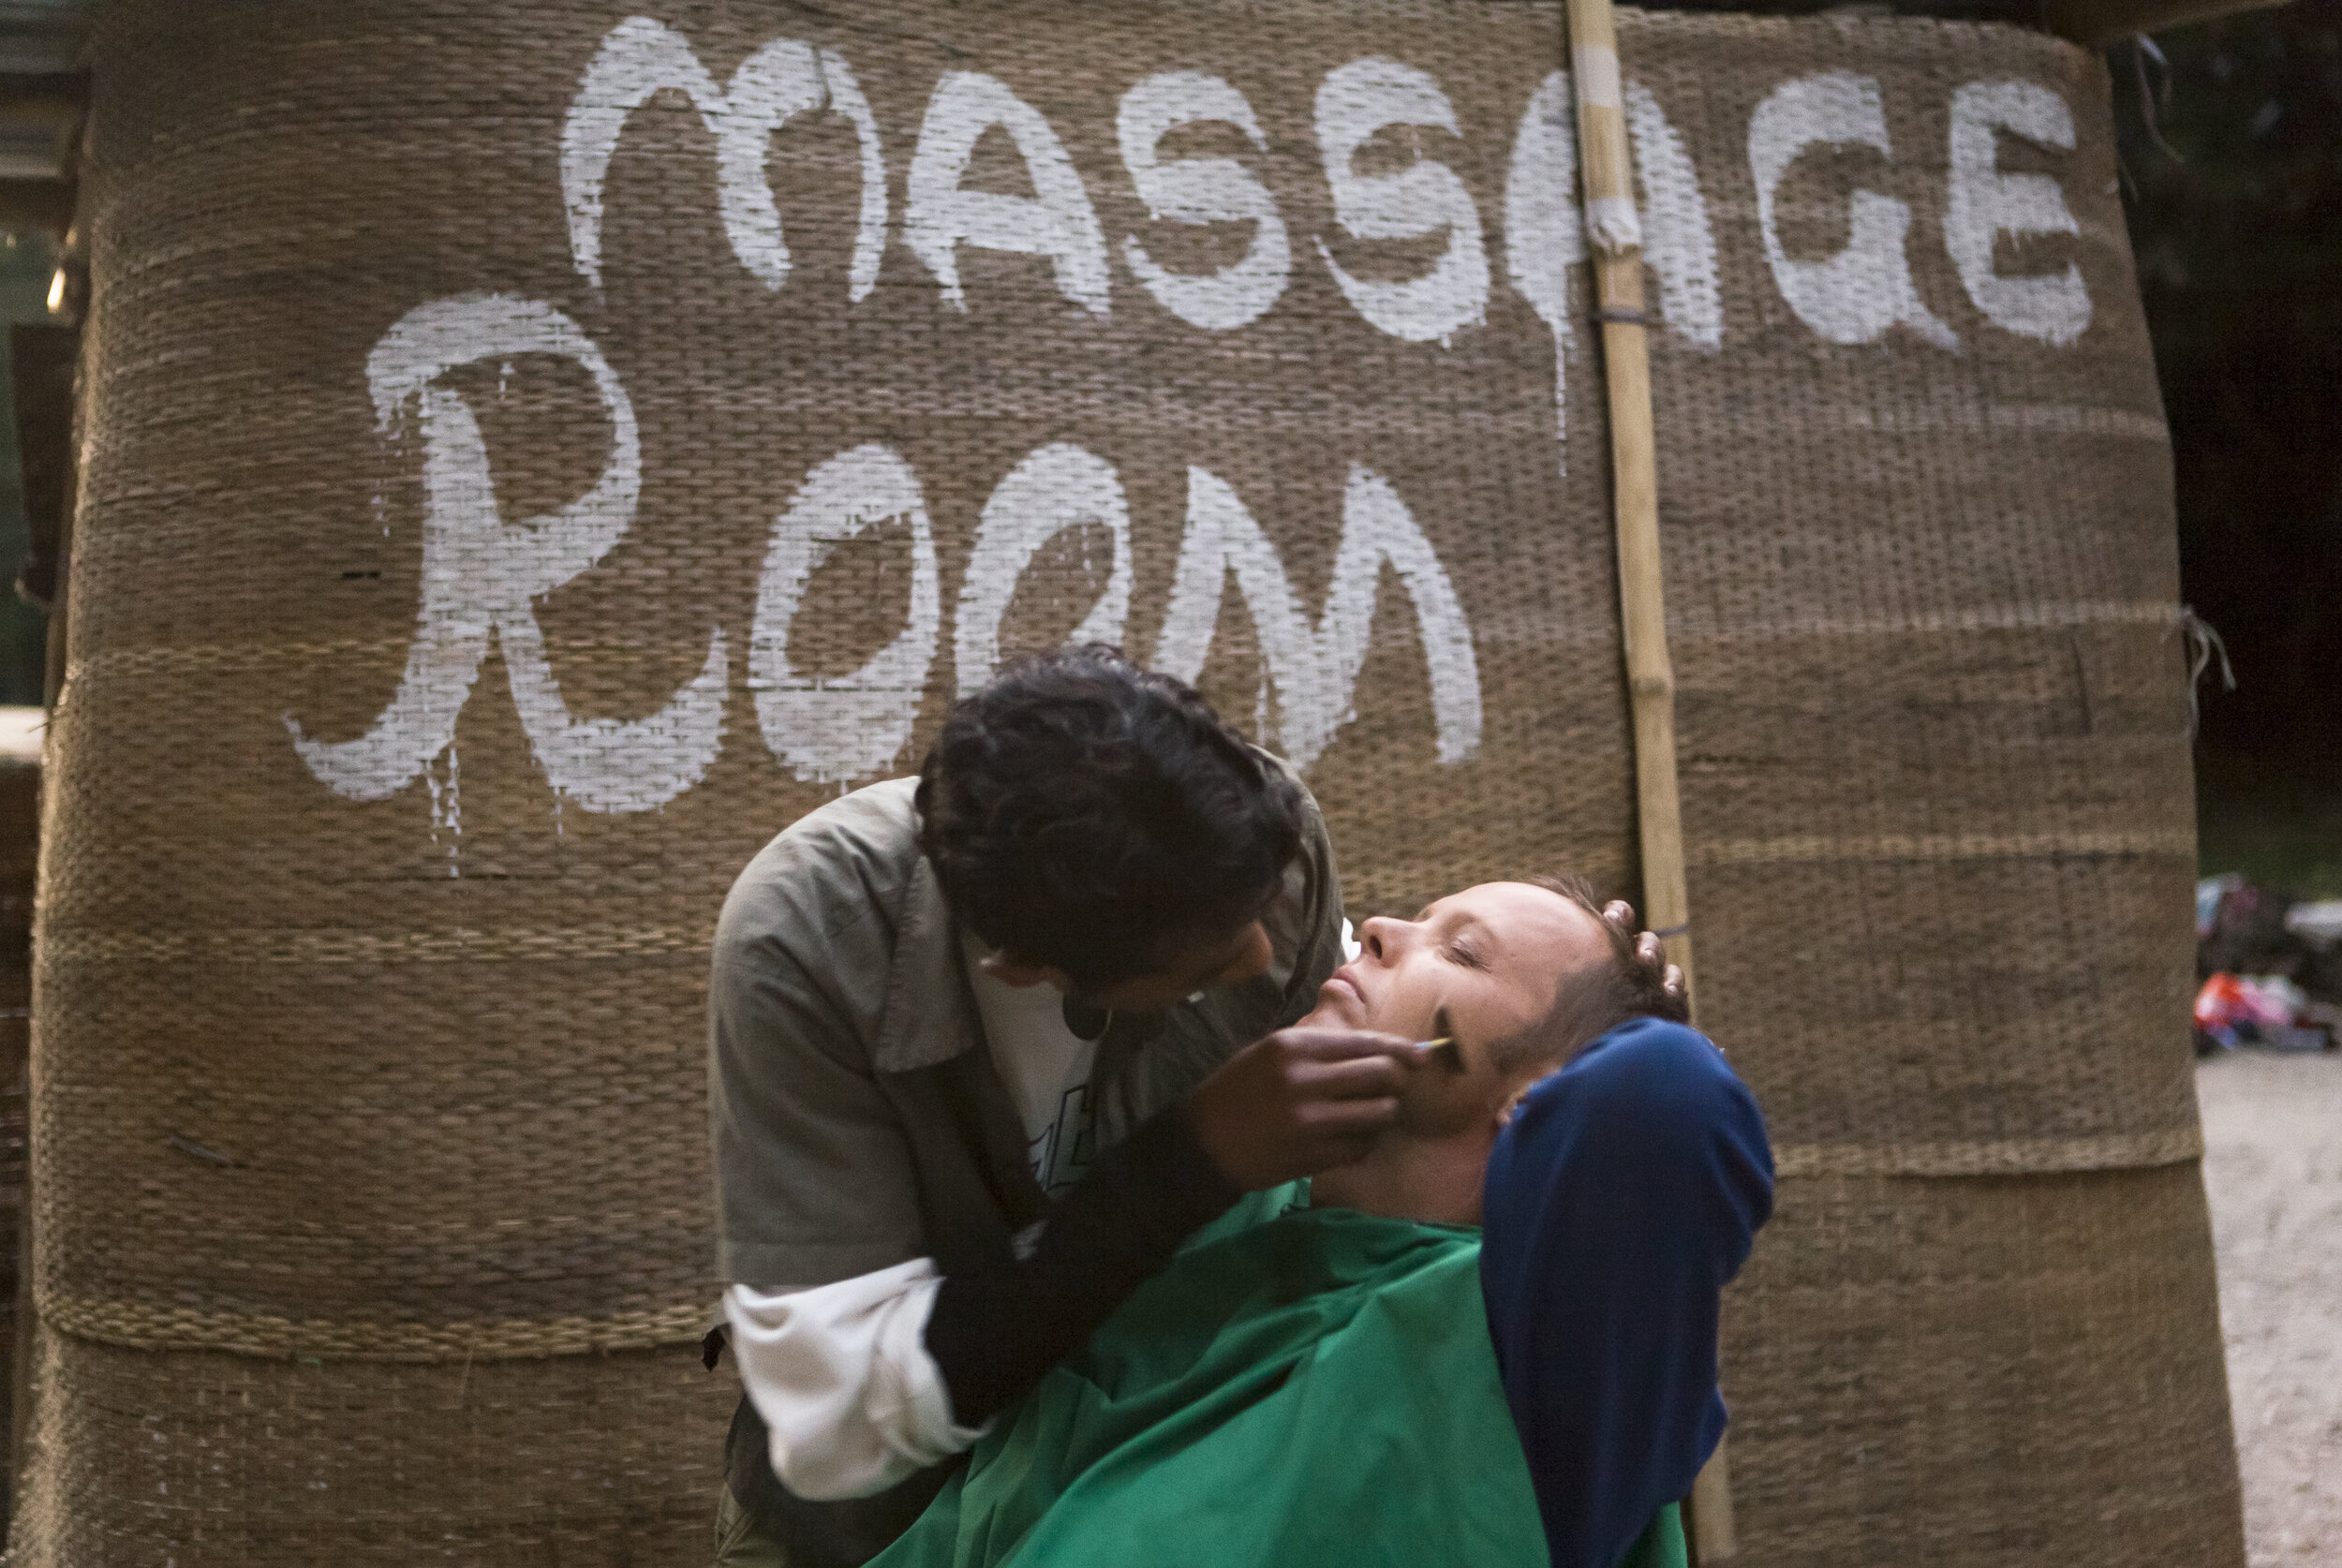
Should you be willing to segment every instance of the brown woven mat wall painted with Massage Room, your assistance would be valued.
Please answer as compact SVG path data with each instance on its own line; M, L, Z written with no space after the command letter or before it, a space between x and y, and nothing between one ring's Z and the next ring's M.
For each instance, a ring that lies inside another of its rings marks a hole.
M1756 1563L2239 1561L2105 80L1621 19ZM1110 637L1632 892L1560 16L105 7L28 1563L684 1563L731 875Z

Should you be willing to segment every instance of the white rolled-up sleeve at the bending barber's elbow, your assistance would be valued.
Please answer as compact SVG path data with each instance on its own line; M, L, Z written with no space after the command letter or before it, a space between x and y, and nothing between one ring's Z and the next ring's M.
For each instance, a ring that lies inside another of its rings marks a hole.
M799 1498L867 1498L984 1437L986 1428L953 1425L927 1355L941 1282L934 1259L916 1257L836 1285L724 1292L773 1474Z

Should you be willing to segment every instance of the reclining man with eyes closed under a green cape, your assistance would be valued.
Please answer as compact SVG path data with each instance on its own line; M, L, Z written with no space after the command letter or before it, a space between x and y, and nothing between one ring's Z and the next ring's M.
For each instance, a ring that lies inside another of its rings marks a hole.
M1557 1568L1679 1566L1672 1498L1689 1491L1705 1451L1637 1432L1698 1430L1714 1397L1712 1304L1696 1329L1705 1343L1653 1353L1649 1334L1630 1332L1642 1315L1632 1257L1607 1259L1616 1280L1557 1282L1562 1297L1611 1308L1588 1318L1562 1301L1567 1320L1614 1336L1625 1322L1621 1343L1663 1364L1602 1367L1614 1346L1588 1343L1604 1374L1583 1378L1588 1409L1557 1421L1532 1409L1548 1442L1525 1456L1506 1411L1518 1378L1499 1374L1490 1343L1473 1226L1490 1154L1536 1086L1541 1123L1635 1130L1623 1149L1586 1142L1614 1170L1550 1172L1557 1203L1639 1208L1653 1229L1679 1219L1714 1229L1724 1215L1705 1250L1731 1257L1724 1273L1738 1266L1771 1208L1764 1126L1714 1046L1670 1023L1682 1016L1682 997L1637 962L1623 924L1604 920L1579 882L1490 882L1417 920L1368 920L1358 957L1326 983L1307 1023L1452 1039L1408 1058L1398 1126L1358 1163L1316 1177L1314 1191L1255 1194L1197 1233L1084 1350L1000 1416L967 1470L876 1563L1534 1566L1548 1561L1550 1498L1560 1498L1564 1519L1595 1517L1574 1540L1600 1556L1553 1556ZM1520 1151L1508 1156L1518 1191ZM1696 1215L1637 1205L1649 1191L1698 1203L1703 1184L1724 1201ZM1550 1245L1555 1217L1541 1222ZM1506 1304L1520 1306L1534 1268L1513 1275ZM1621 1411L1618 1397L1658 1397L1696 1416ZM1588 1423L1632 1437L1621 1463L1532 1474L1543 1453L1569 1453L1550 1442L1555 1430L1574 1437ZM1571 1512L1574 1486L1614 1495ZM1618 1498L1639 1519L1611 1540L1602 1528Z

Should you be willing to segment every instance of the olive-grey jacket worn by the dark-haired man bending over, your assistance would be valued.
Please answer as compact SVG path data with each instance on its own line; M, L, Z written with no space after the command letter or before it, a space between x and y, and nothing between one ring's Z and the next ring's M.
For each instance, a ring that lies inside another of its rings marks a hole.
M958 922L918 850L913 789L871 784L794 821L724 901L707 1018L728 1282L829 1285L913 1257L951 1273L1005 1257L1047 1212L986 1053ZM1307 1013L1342 962L1316 800L1265 924L1269 974L1115 1016L1091 1077L1101 1144Z

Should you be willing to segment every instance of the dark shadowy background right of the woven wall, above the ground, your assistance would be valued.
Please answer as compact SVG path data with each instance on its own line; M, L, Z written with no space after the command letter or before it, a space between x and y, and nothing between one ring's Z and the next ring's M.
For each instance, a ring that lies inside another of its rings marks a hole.
M2342 0L2117 44L2124 206L2171 417L2206 871L2342 896ZM2141 70L2145 94L2141 91ZM2152 119L2145 105L2155 105Z

